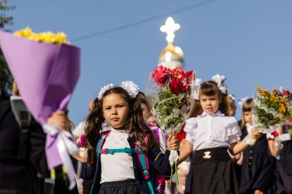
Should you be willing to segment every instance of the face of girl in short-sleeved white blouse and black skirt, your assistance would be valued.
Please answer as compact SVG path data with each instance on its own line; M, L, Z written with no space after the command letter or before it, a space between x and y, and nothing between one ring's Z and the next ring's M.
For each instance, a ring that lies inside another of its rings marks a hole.
M199 103L202 109L209 115L216 113L219 109L219 97L217 95L205 96L202 94L199 96Z

